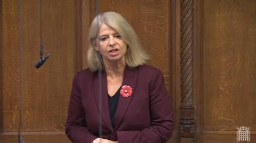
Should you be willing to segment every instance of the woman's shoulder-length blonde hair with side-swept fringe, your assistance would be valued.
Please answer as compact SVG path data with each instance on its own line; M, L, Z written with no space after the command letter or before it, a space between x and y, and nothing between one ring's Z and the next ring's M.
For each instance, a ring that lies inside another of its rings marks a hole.
M103 70L104 64L102 56L95 51L96 39L101 24L107 24L115 29L127 44L125 62L130 68L145 64L149 56L142 50L138 36L133 31L129 23L122 15L116 12L105 12L98 14L91 23L89 32L89 46L87 52L87 62L91 71Z

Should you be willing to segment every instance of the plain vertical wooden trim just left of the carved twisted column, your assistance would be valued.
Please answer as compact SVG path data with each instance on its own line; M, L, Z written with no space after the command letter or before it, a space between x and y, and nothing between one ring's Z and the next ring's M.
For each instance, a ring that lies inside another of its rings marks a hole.
M179 142L180 108L180 1L170 1L170 89L174 111L174 133L169 142Z

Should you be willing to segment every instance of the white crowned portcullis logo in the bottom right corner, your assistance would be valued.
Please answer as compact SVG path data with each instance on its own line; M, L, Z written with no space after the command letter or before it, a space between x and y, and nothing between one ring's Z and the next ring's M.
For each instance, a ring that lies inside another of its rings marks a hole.
M239 141L247 141L247 142L250 142L251 141L251 137L250 137L250 127L247 128L247 127L239 127L237 128L237 132L236 132L236 142L239 142Z

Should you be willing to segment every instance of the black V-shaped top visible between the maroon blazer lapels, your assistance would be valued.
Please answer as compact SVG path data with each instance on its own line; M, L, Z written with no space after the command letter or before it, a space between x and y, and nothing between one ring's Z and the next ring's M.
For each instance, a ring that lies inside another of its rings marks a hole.
M117 104L118 104L118 99L119 99L119 95L120 95L120 89L119 88L114 96L109 96L108 94L108 107L109 107L109 115L110 115L110 120L111 120L111 124L112 127L115 128L115 114L116 114L116 108L117 108Z

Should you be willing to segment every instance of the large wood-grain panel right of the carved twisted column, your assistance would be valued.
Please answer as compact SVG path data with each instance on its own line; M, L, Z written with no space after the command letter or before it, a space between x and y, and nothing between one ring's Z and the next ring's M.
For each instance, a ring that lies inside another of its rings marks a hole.
M256 1L204 1L206 131L256 130Z

